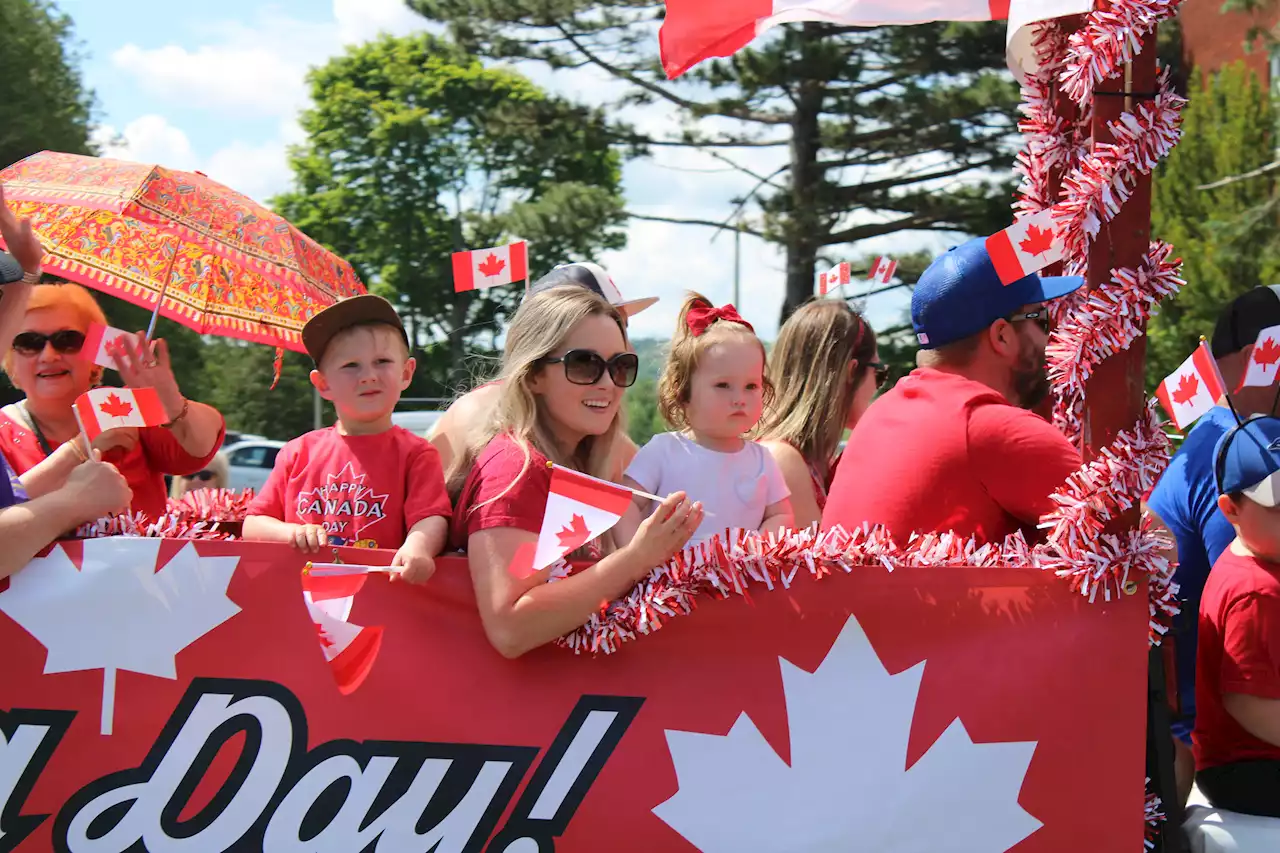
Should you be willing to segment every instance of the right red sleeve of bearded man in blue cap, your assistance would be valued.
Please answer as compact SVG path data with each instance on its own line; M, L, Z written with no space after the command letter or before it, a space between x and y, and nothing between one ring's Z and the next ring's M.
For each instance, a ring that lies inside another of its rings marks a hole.
M1048 500L1083 465L1079 451L1039 415L984 405L969 412L969 460L996 503L1023 524L1053 508Z

